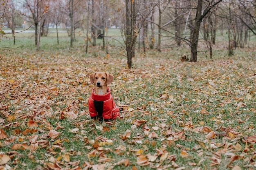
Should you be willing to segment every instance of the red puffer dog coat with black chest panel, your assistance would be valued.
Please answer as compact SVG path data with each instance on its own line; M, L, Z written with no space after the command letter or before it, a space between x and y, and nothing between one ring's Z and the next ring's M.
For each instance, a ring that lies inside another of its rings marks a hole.
M116 119L119 117L119 107L114 102L110 89L106 95L97 95L92 89L92 95L88 100L88 108L91 117L103 117L103 119Z

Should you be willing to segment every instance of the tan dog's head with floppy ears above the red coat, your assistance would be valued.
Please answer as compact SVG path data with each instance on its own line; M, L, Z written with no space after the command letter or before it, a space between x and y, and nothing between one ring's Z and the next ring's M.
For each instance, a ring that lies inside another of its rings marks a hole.
M112 83L114 76L107 72L96 72L90 75L90 82L94 83L95 87L107 86Z

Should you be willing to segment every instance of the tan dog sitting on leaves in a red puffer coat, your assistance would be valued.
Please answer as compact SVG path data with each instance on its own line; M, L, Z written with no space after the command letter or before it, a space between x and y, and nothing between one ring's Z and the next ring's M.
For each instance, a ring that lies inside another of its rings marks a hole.
M111 84L114 76L107 72L90 74L90 82L94 84L92 94L88 99L90 117L96 119L113 120L120 116L119 107L114 102L108 84Z

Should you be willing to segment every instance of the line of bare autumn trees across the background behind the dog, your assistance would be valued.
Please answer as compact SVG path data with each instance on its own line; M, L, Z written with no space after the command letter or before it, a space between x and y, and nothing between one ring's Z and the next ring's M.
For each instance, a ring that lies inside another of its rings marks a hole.
M62 24L70 36L70 48L75 32L85 33L92 46L101 41L108 53L108 41L120 42L132 67L135 51L142 48L159 52L165 48L187 45L191 62L197 61L198 45L204 46L212 59L213 47L227 43L228 54L244 48L250 35L256 35L256 0L1 0L1 34L3 26L11 29L15 44L16 29L30 26L35 30L35 46L47 36L54 25ZM119 28L122 39L108 36L108 29ZM217 33L227 41L216 41ZM97 40L98 38L98 40ZM99 39L100 38L100 39ZM59 43L59 41L57 41Z

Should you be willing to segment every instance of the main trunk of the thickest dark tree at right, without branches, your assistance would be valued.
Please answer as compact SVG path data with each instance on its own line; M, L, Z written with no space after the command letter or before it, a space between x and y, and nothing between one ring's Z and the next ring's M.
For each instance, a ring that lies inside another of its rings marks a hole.
M193 34L192 34L190 62L196 62L198 57L197 56L198 55L198 39L199 39L200 25L202 22L201 20L202 5L203 5L203 0L198 0L198 7L196 10L196 16L195 16L195 25L194 25Z

